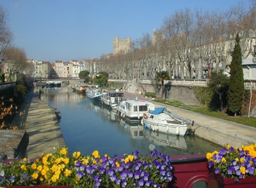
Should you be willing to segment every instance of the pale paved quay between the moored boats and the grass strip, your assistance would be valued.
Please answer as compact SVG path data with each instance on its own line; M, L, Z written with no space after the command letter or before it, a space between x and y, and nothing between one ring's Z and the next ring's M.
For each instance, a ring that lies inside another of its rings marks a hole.
M129 94L125 92L125 98L127 99L145 99L141 95ZM147 99L145 99L147 100ZM243 124L237 124L236 122L230 122L223 119L218 119L202 113L191 112L182 108L174 106L164 105L162 103L154 103L155 107L166 107L166 109L175 115L178 115L182 119L193 120L194 126L193 134L204 140L211 141L222 147L226 147L227 144L233 147L241 147L242 145L251 145L256 143L256 128L245 126ZM239 118L239 117L237 117Z

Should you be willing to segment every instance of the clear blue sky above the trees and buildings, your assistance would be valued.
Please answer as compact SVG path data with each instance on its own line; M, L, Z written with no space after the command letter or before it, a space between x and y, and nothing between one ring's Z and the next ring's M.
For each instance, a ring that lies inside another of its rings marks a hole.
M113 53L113 39L139 39L177 10L225 11L249 0L0 0L12 45L27 59L71 61Z

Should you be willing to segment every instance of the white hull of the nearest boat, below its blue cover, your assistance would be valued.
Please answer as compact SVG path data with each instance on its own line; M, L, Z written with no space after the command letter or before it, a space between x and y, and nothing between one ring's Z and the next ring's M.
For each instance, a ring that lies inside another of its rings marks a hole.
M152 131L158 131L161 133L184 136L188 131L188 126L184 125L156 123L144 118L143 122L144 126L148 129L151 129Z

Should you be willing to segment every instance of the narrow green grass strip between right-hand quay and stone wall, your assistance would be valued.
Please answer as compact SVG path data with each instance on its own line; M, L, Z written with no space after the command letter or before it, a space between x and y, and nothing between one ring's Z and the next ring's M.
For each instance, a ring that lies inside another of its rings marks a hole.
M202 113L205 115L228 120L231 122L244 124L246 126L256 127L256 118L254 117L243 117L243 116L232 117L232 116L228 116L227 113L224 113L224 112L211 111L209 110L209 108L204 106L186 105L180 101L173 101L170 99L156 99L155 101L157 103L163 103L164 105L175 106L175 107L183 108L192 112Z

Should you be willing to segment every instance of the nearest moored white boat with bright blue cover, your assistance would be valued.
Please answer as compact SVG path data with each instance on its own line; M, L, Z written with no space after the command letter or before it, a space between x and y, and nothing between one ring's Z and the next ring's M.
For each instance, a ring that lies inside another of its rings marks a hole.
M193 122L180 119L166 108L156 108L152 112L145 113L143 123L152 131L179 136L184 136L188 132L189 126L193 126Z

